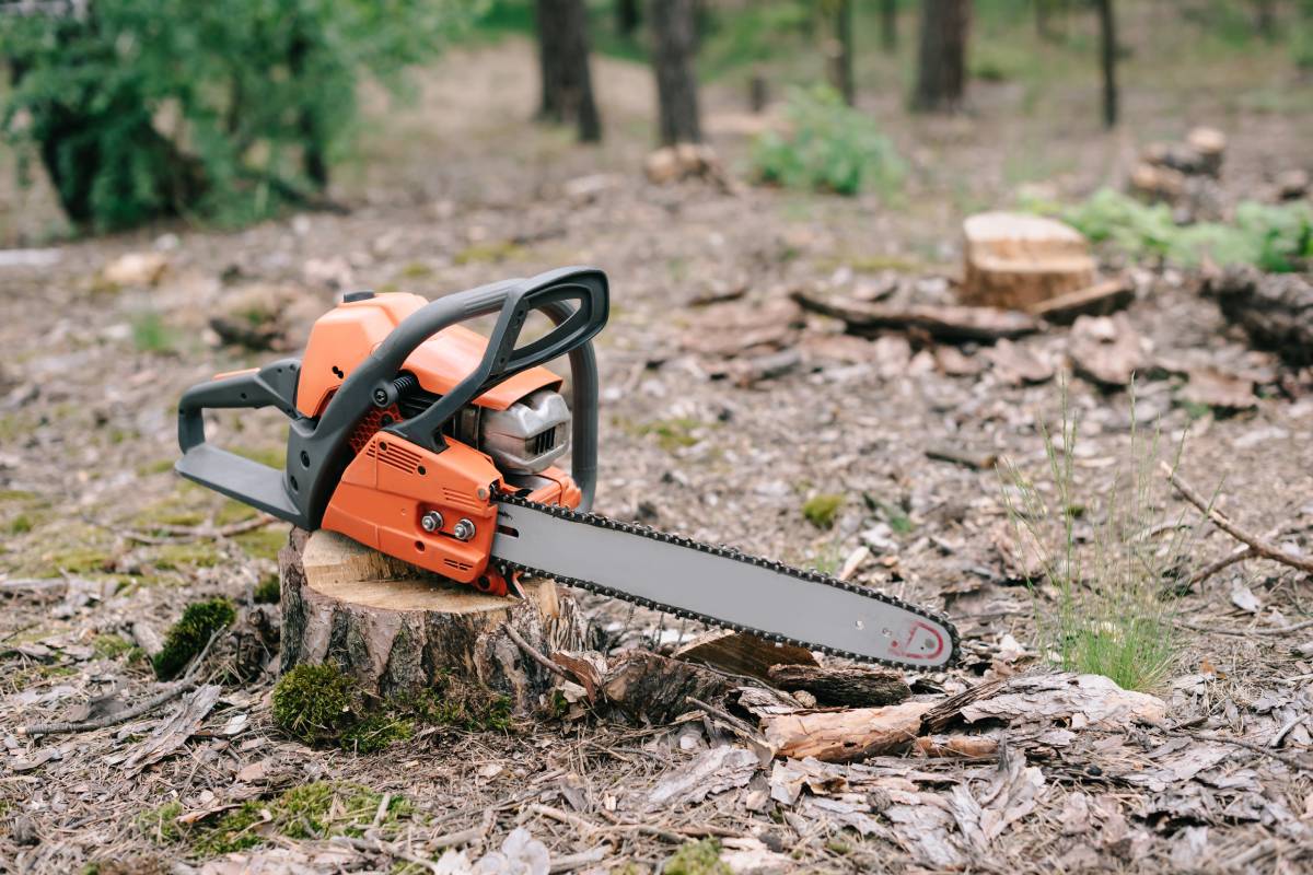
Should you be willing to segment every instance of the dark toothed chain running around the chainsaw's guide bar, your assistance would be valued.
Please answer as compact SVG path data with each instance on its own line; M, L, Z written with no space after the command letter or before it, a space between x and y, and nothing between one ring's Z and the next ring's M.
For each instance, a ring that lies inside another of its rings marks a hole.
M517 506L521 506L521 508L529 508L532 510L538 510L538 512L542 512L542 513L549 513L553 517L558 517L561 519L570 519L571 522L583 522L583 523L587 523L587 525L591 525L591 526L597 526L600 529L612 529L614 531L625 531L628 534L638 535L641 538L650 538L653 540L660 540L660 542L666 542L666 543L674 543L674 544L678 544L680 547L688 547L689 550L696 550L699 552L709 554L709 555L713 555L713 556L723 556L726 559L733 559L734 561L742 561L742 563L747 563L747 564L751 564L751 565L759 565L762 568L769 568L771 571L786 575L786 576L793 577L796 580L804 580L804 581L813 582L813 584L817 584L817 585L821 585L821 586L835 586L835 588L844 589L844 590L848 590L848 592L852 592L852 593L857 593L857 594L860 594L860 596L863 596L865 598L873 598L876 601L885 602L886 605L893 605L894 607L898 607L898 609L905 610L907 613L915 614L918 617L924 617L928 621L939 623L940 626L943 626L948 631L949 639L952 641L952 656L948 659L948 664L947 665L951 665L951 664L956 662L958 660L958 657L961 656L961 647L960 647L961 643L960 643L960 638L958 638L958 634L957 634L957 628L952 623L948 622L948 618L943 613L927 610L924 607L920 607L918 605L913 605L913 603L906 602L906 601L903 601L901 598L897 598L894 596L888 596L888 594L881 593L881 592L874 590L874 589L868 589L865 586L857 586L856 584L850 584L848 581L839 580L838 577L831 577L830 575L822 573L819 571L793 568L792 565L785 565L784 563L779 563L779 561L775 561L772 559L763 559L762 556L754 556L751 554L744 554L744 552L742 552L742 551L739 551L739 550L737 550L734 547L726 547L726 546L722 546L722 544L704 544L704 543L701 543L699 540L693 540L693 539L687 538L684 535L675 535L675 534L668 534L668 533L659 531L656 529L653 529L651 526L621 522L618 519L611 519L609 517L603 517L603 516L599 516L599 514L595 514L595 513L579 513L576 510L571 510L569 508L562 508L559 505L544 505L544 504L538 504L537 501L529 501L528 499L521 499L520 496L513 496L513 495L508 495L508 493L500 493L500 495L494 496L494 501L500 501L503 504L517 505ZM874 662L874 664L878 664L878 665L888 665L890 668L895 668L895 669L899 669L899 670L909 670L909 672L939 672L939 670L943 670L947 666L947 665L934 665L934 666L914 665L914 664L910 664L910 662L899 662L897 660L886 660L886 659L881 659L881 657L876 657L876 656L868 656L868 655L864 655L864 653L856 653L853 651L846 651L846 649L842 649L842 648L830 647L830 645L822 644L819 641L802 641L802 640L798 640L798 639L794 639L794 638L789 638L786 635L780 635L777 632L768 632L768 631L764 631L764 630L754 628L751 626L744 626L742 623L734 623L731 621L722 621L722 619L717 619L714 617L706 617L704 614L699 614L696 611L691 611L691 610L683 609L683 607L676 607L674 605L664 605L662 602L655 602L655 601L649 600L649 598L642 598L642 597L638 597L638 596L630 596L629 593L626 593L624 590L620 590L620 589L616 589L613 586L607 586L604 584L599 584L599 582L595 582L595 581L579 580L576 577L569 577L569 576L558 575L558 573L555 573L555 572L553 572L551 569L548 569L548 568L533 568L533 567L524 565L524 564L520 564L520 563L513 563L513 561L500 560L500 559L496 560L496 561L499 561L506 569L519 571L519 572L528 573L528 575L537 575L537 576L541 576L541 577L551 577L557 582L563 584L566 586L575 586L578 589L587 589L587 590L597 593L600 596L609 596L612 598L618 598L621 601L626 601L630 605L638 605L641 607L659 610L659 611L662 611L664 614L671 614L674 617L679 617L679 618L684 618L684 619L696 619L700 623L705 623L708 626L713 626L713 627L717 627L717 628L727 628L727 630L733 630L733 631L737 631L737 632L747 632L748 635L756 635L758 638L762 638L762 639L765 639L765 640L769 640L769 641L779 641L780 644L792 644L794 647L802 647L802 648L806 648L809 651L819 651L822 653L829 653L830 656L839 656L839 657L855 660L855 661L859 661L859 662Z

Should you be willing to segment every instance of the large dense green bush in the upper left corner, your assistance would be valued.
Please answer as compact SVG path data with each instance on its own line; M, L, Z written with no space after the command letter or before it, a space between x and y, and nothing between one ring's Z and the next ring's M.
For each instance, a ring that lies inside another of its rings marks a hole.
M68 218L249 219L324 188L365 75L399 85L471 4L163 0L0 13L0 134L30 146ZM477 4L475 4L477 5Z

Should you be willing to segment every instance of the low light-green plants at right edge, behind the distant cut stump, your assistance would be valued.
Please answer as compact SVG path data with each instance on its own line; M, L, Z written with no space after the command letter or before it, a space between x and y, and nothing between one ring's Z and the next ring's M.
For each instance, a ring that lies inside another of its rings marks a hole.
M1165 203L1149 206L1112 189L1070 207L1035 202L1028 207L1056 214L1094 243L1108 243L1133 258L1194 266L1207 257L1218 265L1251 264L1270 272L1300 270L1313 258L1313 205L1308 201L1245 201L1230 223L1190 226L1178 226Z

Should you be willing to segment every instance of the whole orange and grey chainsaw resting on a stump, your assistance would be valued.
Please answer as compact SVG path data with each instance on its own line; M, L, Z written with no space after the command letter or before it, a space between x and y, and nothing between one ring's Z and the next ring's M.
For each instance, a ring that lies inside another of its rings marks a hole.
M607 277L562 268L427 302L352 293L301 358L219 374L179 403L184 478L306 530L328 529L444 579L519 594L538 575L768 640L937 669L941 615L817 571L593 513ZM525 331L529 316L551 328ZM487 337L465 323L495 316ZM525 335L521 338L521 333ZM544 367L559 357L565 380ZM278 471L205 439L205 411L274 407ZM570 470L557 464L570 451Z

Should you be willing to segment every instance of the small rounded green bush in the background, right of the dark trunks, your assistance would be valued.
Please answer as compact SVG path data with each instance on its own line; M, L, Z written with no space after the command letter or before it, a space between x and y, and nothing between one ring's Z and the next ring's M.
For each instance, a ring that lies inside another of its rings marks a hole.
M834 89L792 92L785 117L788 132L765 132L752 146L760 181L836 194L892 192L902 184L905 167L893 143Z

